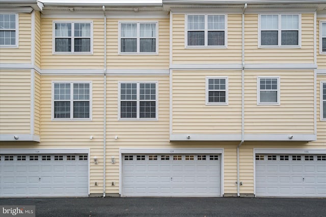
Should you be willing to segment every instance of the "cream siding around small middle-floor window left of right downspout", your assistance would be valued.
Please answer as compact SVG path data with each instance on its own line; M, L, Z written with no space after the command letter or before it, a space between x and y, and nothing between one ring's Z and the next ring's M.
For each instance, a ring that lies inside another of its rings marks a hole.
M205 105L206 76L227 76L229 105ZM241 71L173 71L172 133L241 133Z

